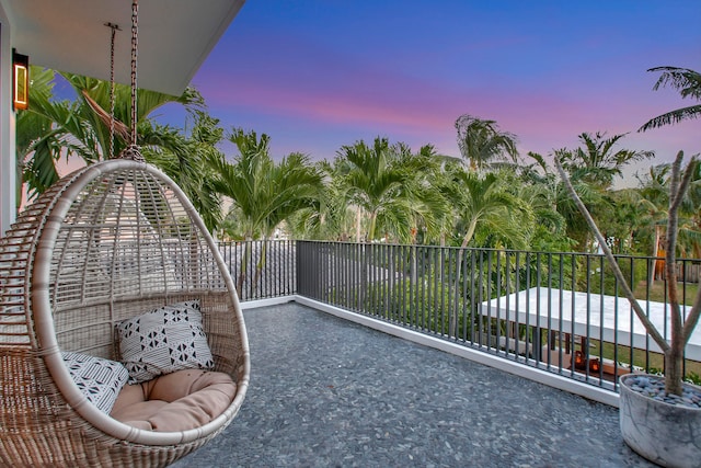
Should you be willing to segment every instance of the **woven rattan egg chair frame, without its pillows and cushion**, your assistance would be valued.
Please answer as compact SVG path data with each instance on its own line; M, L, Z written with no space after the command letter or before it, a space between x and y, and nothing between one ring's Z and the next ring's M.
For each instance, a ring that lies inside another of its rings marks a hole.
M90 403L61 352L118 359L115 323L198 299L215 370L237 383L206 425L151 432ZM235 288L192 204L158 169L128 159L64 178L0 240L0 465L164 466L239 411L250 375Z

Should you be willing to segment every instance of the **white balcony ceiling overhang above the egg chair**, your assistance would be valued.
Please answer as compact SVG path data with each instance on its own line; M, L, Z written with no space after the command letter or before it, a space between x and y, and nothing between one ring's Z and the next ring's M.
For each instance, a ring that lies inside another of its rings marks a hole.
M138 85L180 94L245 0L139 2ZM118 24L115 80L130 83L129 0L0 0L12 46L32 65L110 79L110 28Z

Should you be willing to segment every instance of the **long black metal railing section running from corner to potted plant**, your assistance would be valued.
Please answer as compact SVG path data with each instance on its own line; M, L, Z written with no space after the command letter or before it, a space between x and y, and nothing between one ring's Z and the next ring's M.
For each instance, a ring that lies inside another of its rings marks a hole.
M662 372L664 359L602 255L299 241L297 294L591 385ZM664 259L618 256L669 338ZM690 305L699 260L680 260ZM686 281L685 281L686 279ZM701 374L701 328L685 370Z

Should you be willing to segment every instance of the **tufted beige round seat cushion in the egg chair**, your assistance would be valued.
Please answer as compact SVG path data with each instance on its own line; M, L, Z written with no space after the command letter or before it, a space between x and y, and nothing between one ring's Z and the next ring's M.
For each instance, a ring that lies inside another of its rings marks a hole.
M124 387L112 418L159 432L199 427L233 401L237 385L228 374L185 369Z

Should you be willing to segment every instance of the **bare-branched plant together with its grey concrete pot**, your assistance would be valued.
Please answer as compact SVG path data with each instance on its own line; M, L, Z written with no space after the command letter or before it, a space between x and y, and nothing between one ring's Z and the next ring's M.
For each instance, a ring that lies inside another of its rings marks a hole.
M701 464L701 407L698 402L694 403L694 400L701 400L701 388L683 383L682 373L683 350L701 313L701 287L685 317L679 304L676 266L677 213L692 175L699 169L699 161L697 157L692 157L682 171L682 160L683 152L679 151L671 165L669 183L665 274L667 301L671 315L671 334L670 340L667 341L646 317L608 248L606 239L572 186L562 164L555 158L558 172L596 237L621 289L647 334L664 352L664 385L658 376L640 374L622 376L619 411L621 433L625 443L645 458L667 467L698 467Z

